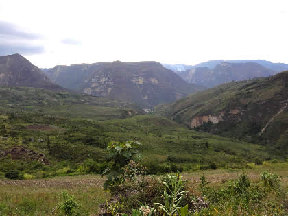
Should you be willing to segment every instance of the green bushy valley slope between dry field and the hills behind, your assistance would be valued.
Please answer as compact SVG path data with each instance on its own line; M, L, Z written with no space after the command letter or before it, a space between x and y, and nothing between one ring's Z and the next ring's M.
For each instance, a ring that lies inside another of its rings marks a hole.
M191 131L149 115L87 121L21 112L2 116L0 122L5 125L0 172L17 170L19 176L26 173L23 178L101 173L108 163L106 143L111 140L142 143L139 149L147 173L239 169L256 157L281 160L272 147Z

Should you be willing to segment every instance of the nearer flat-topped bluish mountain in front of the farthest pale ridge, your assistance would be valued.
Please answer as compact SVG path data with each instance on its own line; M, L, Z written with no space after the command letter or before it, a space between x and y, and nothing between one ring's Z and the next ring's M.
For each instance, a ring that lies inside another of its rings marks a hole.
M267 69L255 62L217 64L214 69L209 67L197 67L188 73L182 73L184 80L197 83L209 88L226 82L248 80L254 77L267 77L275 75L276 72Z

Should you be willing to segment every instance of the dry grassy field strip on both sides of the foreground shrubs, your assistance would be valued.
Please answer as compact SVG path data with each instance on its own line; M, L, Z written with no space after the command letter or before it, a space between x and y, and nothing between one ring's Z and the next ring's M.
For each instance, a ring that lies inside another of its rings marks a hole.
M281 186L287 193L288 163L257 165L245 171L224 169L193 171L182 173L182 176L194 188L195 195L200 195L198 189L200 174L206 176L211 186L221 187L221 184L236 179L243 172L252 181L257 181L260 173L265 170L280 176ZM158 178L158 176L155 177ZM62 191L75 195L84 215L97 215L98 205L110 198L110 195L103 189L105 180L99 175L58 176L37 180L2 179L0 180L0 215L58 215L57 207ZM288 208L288 206L285 207Z

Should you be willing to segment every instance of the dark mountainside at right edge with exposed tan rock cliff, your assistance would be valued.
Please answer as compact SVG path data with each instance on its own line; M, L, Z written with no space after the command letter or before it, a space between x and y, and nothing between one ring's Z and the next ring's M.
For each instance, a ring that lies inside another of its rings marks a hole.
M222 84L154 112L189 128L288 149L288 71Z

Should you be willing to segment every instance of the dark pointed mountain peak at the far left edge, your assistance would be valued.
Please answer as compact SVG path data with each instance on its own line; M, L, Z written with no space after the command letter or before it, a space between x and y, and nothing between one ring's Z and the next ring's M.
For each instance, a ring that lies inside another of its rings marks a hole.
M19 54L0 56L0 86L27 86L63 90L38 67Z

